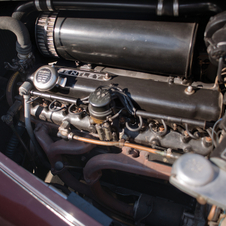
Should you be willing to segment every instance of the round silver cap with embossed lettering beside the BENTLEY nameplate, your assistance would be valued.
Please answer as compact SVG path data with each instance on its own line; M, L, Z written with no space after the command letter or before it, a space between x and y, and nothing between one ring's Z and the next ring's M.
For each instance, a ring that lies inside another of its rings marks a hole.
M58 74L51 66L42 66L34 74L34 86L37 90L51 90L57 83Z

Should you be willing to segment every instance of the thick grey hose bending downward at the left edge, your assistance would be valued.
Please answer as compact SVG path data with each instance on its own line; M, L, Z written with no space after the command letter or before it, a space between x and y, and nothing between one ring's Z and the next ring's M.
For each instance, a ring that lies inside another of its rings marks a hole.
M0 29L13 32L17 37L16 51L21 55L31 52L32 45L30 35L26 26L19 20L12 17L0 17Z

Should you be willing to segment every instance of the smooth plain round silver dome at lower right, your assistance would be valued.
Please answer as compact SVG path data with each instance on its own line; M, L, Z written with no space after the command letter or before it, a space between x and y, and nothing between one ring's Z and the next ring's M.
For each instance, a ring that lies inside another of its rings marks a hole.
M173 168L172 172L176 174L178 181L195 187L209 183L214 177L211 163L198 154L181 156Z

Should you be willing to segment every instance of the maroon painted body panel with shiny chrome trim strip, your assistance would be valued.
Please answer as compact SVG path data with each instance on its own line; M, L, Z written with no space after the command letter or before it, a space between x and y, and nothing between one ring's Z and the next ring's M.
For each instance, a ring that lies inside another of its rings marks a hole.
M0 181L0 225L100 225L1 153Z

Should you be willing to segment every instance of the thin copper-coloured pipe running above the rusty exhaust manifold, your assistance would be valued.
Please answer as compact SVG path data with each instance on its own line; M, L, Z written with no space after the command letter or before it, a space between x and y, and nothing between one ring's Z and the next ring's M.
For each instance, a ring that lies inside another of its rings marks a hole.
M157 154L157 155L161 155L163 157L168 157L168 158L174 158L174 159L178 159L180 157L179 154L173 154L173 153L167 153L167 152L163 152L163 151L159 151L153 148L149 148L149 147L144 147L141 145L137 145L137 144L131 144L128 142L124 142L124 141L100 141L100 140L95 140L95 139L91 139L91 138L86 138L86 137L80 137L77 136L73 133L69 133L68 135L68 139L69 140L78 140L78 141L82 141L82 142L86 142L86 143L91 143L91 144L97 144L97 145L101 145L101 146L116 146L116 147L130 147L130 148L134 148L137 150L141 150L141 151L147 151L149 153L152 154Z

